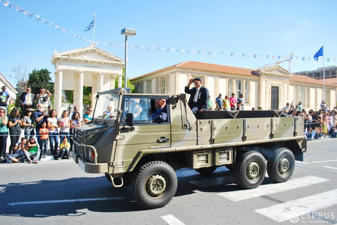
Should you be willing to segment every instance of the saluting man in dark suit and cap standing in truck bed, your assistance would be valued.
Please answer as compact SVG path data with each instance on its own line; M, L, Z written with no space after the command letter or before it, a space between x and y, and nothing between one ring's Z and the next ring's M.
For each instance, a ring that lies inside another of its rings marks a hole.
M189 86L194 83L192 89L189 89ZM208 110L208 89L202 86L203 80L200 77L189 79L187 86L185 87L185 93L190 94L188 100L188 106L191 108L194 116L197 113L203 113L204 110Z

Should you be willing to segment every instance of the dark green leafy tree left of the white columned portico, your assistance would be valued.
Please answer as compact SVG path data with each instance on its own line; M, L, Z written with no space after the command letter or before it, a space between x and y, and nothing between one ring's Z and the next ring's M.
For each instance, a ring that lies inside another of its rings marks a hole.
M32 87L32 93L38 95L40 89L48 89L50 93L54 93L54 82L50 77L50 72L47 69L36 70L34 69L28 78L27 86ZM50 100L53 103L54 95L51 96Z

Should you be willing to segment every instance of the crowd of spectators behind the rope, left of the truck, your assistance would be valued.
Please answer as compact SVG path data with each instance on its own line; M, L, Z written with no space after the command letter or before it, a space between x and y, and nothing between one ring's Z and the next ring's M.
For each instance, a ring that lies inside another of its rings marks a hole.
M7 163L37 164L39 159L48 156L48 142L54 159L70 159L72 129L84 125L79 107L74 106L73 111L71 108L64 110L58 118L50 102L49 90L41 88L35 95L31 93L32 88L27 87L18 98L19 108L15 107L6 89L3 86L0 92L0 162L6 159ZM92 108L85 117L87 122L92 119ZM20 140L22 129L24 137ZM10 146L6 155L8 137ZM60 145L59 139L62 140Z

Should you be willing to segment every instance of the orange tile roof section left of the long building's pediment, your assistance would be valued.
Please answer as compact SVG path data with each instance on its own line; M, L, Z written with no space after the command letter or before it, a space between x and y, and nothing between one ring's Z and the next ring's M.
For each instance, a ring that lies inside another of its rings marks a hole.
M182 68L182 69L192 69L192 70L201 70L201 71L209 71L209 72L216 72L216 73L226 73L226 74L238 74L238 75L246 75L246 76L255 76L252 75L249 71L253 69L236 67L236 66L227 66L227 65L219 65L219 64L212 64L206 62L195 62L195 61L185 61L179 64L175 64L172 66L165 67L163 69L153 71L148 74L144 74L135 78L131 78L130 80L134 80L137 78L145 77L151 74L155 74L161 71L175 69L175 68Z

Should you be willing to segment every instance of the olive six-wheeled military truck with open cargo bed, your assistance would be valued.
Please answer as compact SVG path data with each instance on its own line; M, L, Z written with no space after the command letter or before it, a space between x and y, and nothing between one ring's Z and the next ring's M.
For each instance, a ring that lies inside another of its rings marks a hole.
M72 159L86 173L104 173L114 187L130 184L135 201L147 209L170 202L181 168L207 175L225 166L238 185L251 189L266 171L276 183L287 181L295 160L303 161L303 117L274 110L194 116L187 97L127 94L122 88L98 93L92 121L73 130ZM156 99L166 100L165 121L151 119Z

